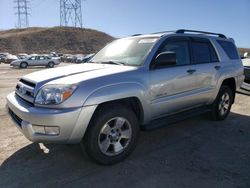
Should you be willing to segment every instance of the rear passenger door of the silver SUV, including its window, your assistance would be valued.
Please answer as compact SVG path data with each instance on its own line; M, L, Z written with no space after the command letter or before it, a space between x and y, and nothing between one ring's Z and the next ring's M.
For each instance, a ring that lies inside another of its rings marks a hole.
M218 80L221 64L210 40L199 37L191 38L192 66L195 70L195 93L197 104L209 101Z

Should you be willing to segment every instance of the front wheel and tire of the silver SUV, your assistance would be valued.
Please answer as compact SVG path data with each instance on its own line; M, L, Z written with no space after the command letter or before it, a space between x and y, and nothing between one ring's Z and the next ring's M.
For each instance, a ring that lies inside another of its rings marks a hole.
M139 121L131 109L106 105L94 114L81 146L97 163L111 165L134 150L138 136Z

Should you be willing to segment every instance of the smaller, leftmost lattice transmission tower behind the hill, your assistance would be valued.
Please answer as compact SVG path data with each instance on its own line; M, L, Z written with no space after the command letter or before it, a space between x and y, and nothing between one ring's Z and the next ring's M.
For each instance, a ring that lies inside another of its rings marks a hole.
M15 14L17 15L17 28L25 28L29 27L29 12L28 10L30 7L28 7L29 1L27 0L14 0L14 3L16 6L14 7L16 9Z

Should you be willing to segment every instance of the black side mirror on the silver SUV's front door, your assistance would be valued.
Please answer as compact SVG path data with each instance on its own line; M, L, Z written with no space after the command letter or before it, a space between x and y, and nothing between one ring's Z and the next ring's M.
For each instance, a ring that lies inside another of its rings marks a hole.
M176 53L172 51L166 51L156 56L153 68L165 68L174 65L176 65Z

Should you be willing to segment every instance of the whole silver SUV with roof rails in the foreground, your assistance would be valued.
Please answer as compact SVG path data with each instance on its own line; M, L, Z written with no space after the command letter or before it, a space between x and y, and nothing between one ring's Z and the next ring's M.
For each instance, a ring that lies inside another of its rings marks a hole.
M224 120L244 80L234 41L177 30L113 41L90 62L28 74L7 97L33 142L81 143L101 164L126 158L139 130L209 111Z

